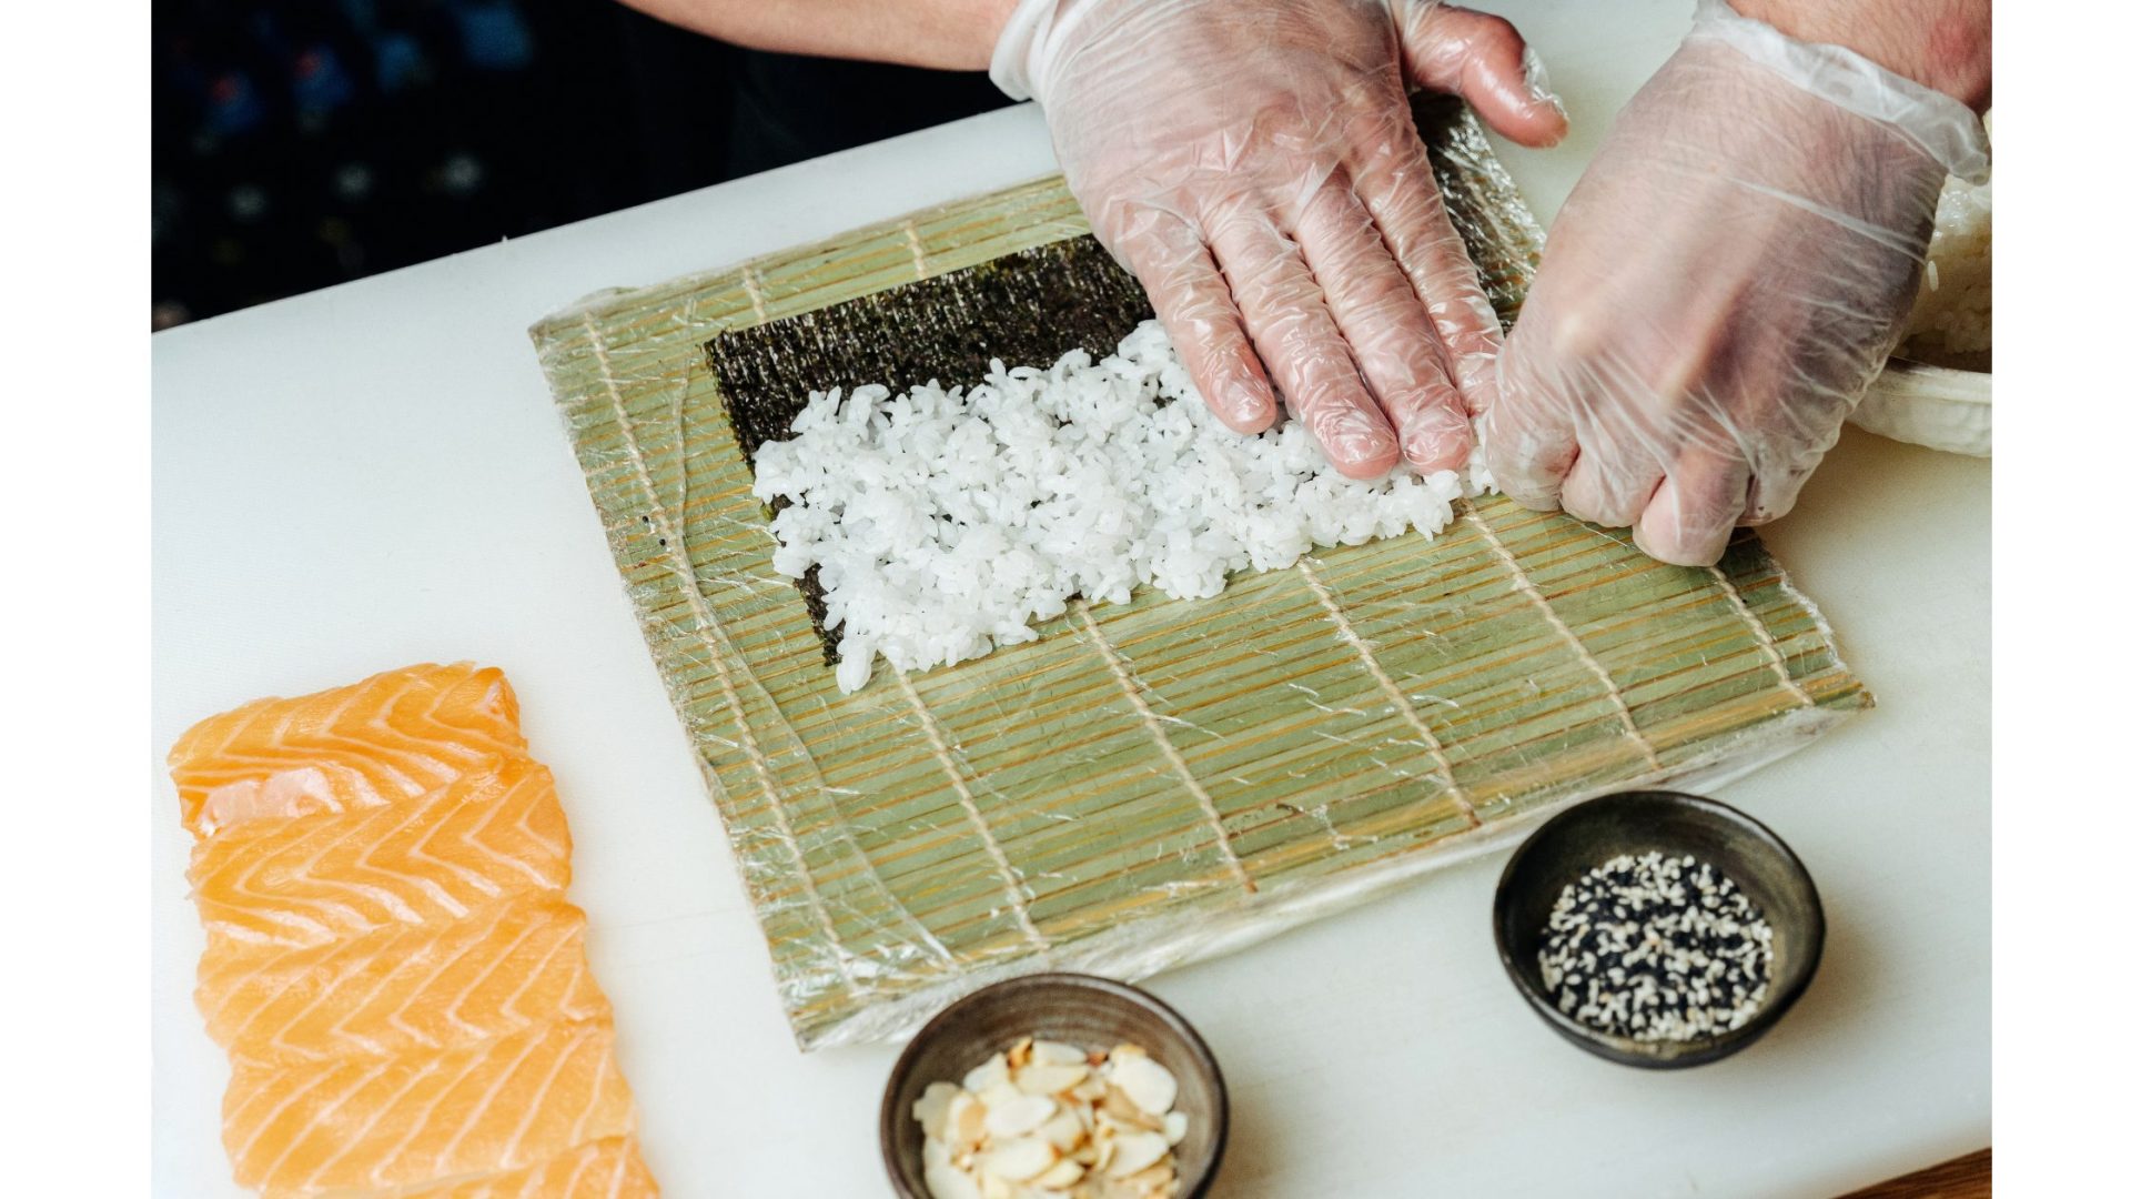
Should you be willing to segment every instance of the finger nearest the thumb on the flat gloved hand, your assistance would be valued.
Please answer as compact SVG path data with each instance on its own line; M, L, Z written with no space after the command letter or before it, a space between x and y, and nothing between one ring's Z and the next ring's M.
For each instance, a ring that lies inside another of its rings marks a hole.
M1502 320L1479 286L1479 271L1473 269L1464 239L1451 226L1436 175L1428 169L1428 147L1421 145L1413 122L1383 122L1383 128L1370 134L1372 149L1349 164L1353 190L1368 205L1392 258L1428 307L1443 361L1464 397L1466 412L1487 412L1496 395L1494 367L1502 350Z

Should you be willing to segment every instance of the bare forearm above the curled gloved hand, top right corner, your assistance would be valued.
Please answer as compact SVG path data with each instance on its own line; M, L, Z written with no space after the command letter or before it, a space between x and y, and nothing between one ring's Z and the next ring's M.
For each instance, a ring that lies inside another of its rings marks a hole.
M1741 17L1850 47L1894 75L1990 107L1990 0L1733 0Z

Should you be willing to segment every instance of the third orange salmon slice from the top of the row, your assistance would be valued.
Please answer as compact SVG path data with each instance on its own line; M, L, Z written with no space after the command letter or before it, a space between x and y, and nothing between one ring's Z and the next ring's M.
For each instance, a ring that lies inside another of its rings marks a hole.
M224 956L196 992L207 1033L251 1065L443 1050L548 1022L612 1020L584 913L552 892L443 926Z

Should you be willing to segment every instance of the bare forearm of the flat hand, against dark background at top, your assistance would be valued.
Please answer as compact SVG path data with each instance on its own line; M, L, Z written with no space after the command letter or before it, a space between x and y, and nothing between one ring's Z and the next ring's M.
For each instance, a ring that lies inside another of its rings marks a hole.
M622 0L718 41L784 53L985 70L1014 0Z

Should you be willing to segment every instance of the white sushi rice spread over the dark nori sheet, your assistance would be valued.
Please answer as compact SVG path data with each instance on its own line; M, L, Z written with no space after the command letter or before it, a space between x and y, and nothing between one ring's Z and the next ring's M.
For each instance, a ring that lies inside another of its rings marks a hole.
M1102 361L993 361L967 390L814 393L793 437L754 459L754 495L788 501L776 572L820 567L846 693L876 655L897 670L980 657L1034 640L1074 597L1204 600L1313 546L1434 535L1485 486L1477 461L1343 478L1300 420L1234 433L1153 320Z

